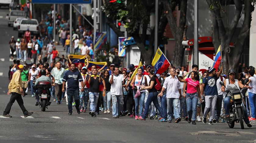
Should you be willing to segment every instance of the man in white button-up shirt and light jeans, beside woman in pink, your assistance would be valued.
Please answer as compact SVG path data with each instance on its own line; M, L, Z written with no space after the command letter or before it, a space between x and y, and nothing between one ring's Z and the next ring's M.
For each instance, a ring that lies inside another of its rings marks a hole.
M180 81L175 76L175 70L173 68L169 69L171 76L165 78L162 91L158 96L163 96L163 91L166 91L166 100L167 100L167 122L171 123L173 119L173 113L175 117L175 123L181 121L180 118L180 98L181 98L181 87ZM172 112L172 105L174 107L174 112Z

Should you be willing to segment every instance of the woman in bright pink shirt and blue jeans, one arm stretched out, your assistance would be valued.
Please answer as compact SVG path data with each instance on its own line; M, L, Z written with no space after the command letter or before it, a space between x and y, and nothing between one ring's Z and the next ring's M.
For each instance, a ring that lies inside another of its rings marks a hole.
M187 94L186 94L186 103L187 103L187 114L188 120L187 122L191 122L191 114L192 114L192 124L196 124L197 117L197 102L198 97L202 102L200 86L199 86L199 75L197 72L192 71L190 74L191 78L181 79L176 73L176 76L180 82L187 83ZM192 111L192 113L191 113Z

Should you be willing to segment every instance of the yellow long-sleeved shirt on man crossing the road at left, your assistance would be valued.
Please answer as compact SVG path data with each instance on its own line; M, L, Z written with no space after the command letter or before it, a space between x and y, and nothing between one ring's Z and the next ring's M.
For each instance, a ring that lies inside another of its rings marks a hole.
M21 88L22 82L21 82L21 72L17 70L15 73L12 75L12 80L9 83L8 89L9 92L16 92L18 94L21 94L20 88Z

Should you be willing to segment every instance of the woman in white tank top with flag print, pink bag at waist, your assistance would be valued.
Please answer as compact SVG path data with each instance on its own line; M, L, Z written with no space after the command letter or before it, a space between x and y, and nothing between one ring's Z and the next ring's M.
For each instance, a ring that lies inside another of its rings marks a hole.
M138 68L137 75L134 76L132 81L130 82L130 86L133 86L133 83L134 83L134 88L137 88L137 90L140 90L140 85L148 86L147 78L142 75L142 71L143 71L142 68ZM145 93L146 90L140 90L140 96L137 97L137 94L136 94L137 90L133 91L133 97L135 101L135 120L138 120L139 116L142 116L145 94L146 94ZM140 106L140 112L139 112L139 106Z

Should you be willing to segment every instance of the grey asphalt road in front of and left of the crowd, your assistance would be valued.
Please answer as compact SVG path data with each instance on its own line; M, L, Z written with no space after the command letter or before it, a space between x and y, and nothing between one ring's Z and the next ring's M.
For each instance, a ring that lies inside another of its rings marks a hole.
M17 31L7 26L8 9L0 9L0 111L9 101L6 95L8 81L9 39L17 37ZM2 17L2 18L1 18ZM4 61L2 60L4 59ZM30 92L29 92L30 93ZM130 117L113 119L112 114L100 112L97 117L88 113L68 115L66 102L55 102L42 112L35 106L34 97L23 98L31 117L23 118L22 111L15 102L10 115L0 116L0 142L256 142L256 125L241 130L236 124L230 129L225 123L214 125L197 122L197 125L180 123L160 123L147 119L145 122ZM88 110L87 110L88 111Z

